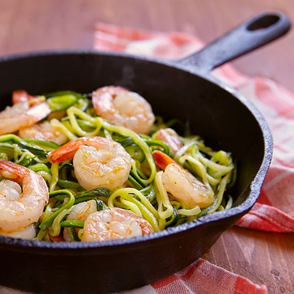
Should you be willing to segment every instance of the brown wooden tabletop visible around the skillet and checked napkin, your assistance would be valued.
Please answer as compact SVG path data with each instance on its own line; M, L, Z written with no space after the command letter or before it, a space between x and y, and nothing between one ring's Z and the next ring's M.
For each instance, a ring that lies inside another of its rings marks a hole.
M60 48L92 48L96 21L183 31L208 42L262 10L294 20L294 0L0 0L0 55ZM250 75L294 91L294 31L234 62ZM25 70L25 69L24 69ZM266 284L269 293L294 293L294 234L233 227L204 256L213 264Z

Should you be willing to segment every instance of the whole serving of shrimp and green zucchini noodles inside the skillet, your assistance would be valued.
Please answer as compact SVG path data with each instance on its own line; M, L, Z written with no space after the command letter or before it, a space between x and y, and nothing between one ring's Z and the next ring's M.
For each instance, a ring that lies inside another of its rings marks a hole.
M12 95L0 113L0 234L140 236L230 209L231 154L180 136L122 87Z

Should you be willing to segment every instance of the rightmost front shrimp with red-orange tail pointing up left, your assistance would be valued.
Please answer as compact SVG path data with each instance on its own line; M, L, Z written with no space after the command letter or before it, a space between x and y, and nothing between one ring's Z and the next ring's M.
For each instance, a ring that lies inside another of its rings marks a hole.
M200 208L207 207L215 201L210 195L209 189L196 177L177 164L165 153L153 151L155 163L164 170L162 183L170 194L188 208L198 205Z

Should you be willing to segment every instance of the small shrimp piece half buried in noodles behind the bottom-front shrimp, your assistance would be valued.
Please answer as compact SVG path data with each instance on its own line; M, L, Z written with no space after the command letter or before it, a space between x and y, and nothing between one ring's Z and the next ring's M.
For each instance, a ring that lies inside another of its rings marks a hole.
M95 200L81 202L73 206L73 210L68 215L67 220L85 221L90 214L96 211L97 211L97 203ZM78 233L80 229L76 228L75 230ZM70 236L69 228L64 228L63 238L65 241L68 241L68 242L73 241Z

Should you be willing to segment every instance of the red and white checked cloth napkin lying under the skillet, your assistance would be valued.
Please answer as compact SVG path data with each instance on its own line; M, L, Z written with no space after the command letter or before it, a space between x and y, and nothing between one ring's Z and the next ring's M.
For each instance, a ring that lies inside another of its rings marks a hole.
M180 59L204 43L184 33L158 33L97 23L94 48ZM226 64L213 75L237 88L261 111L274 138L273 160L257 203L237 225L271 232L294 232L294 95L262 77L249 77ZM132 294L266 294L266 286L199 259L159 282Z

